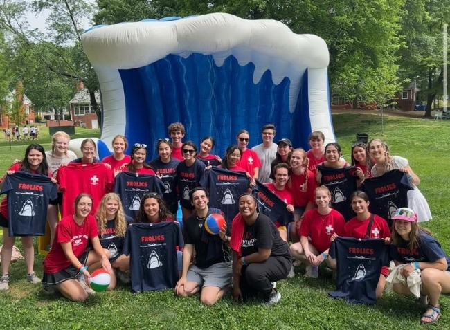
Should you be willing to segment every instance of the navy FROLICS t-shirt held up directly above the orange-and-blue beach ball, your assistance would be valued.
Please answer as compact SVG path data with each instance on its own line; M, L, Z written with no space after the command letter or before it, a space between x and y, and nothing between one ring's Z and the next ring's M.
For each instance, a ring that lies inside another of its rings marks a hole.
M249 178L244 172L213 167L205 171L200 185L209 191L209 207L222 210L227 221L226 225L231 228L231 221L239 212L237 199L247 191L250 185Z

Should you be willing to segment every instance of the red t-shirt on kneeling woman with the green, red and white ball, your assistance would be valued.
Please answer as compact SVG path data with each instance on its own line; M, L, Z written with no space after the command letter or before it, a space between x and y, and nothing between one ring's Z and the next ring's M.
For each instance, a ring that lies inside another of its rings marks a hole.
M73 254L78 258L86 250L89 240L94 237L98 237L97 221L90 214L84 218L82 225L75 222L73 215L62 218L56 226L51 250L44 259L44 272L54 274L71 265L64 255L61 243L71 242Z

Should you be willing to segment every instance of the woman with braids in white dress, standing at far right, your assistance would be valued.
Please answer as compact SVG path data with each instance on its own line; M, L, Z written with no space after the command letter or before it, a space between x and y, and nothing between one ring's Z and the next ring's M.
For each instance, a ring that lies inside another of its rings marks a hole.
M367 145L367 153L375 162L372 166L372 176L381 176L392 169L398 169L406 174L409 182L414 189L408 190L408 208L417 213L417 221L429 221L432 219L430 207L422 192L417 185L420 184L420 178L413 172L406 158L400 156L390 156L389 147L379 139L372 139ZM370 164L368 163L368 166Z

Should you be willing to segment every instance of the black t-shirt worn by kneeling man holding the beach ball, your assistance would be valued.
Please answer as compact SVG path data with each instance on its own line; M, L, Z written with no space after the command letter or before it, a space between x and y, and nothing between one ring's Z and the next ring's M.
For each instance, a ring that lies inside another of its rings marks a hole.
M198 268L208 268L219 262L230 262L229 248L225 242L222 242L222 249L216 250L216 255L208 256L208 249L213 242L205 241L204 223L205 218L197 218L197 214L192 214L183 223L183 237L185 244L192 244L195 248L195 266ZM229 227L227 228L229 235ZM214 242L215 243L215 242Z

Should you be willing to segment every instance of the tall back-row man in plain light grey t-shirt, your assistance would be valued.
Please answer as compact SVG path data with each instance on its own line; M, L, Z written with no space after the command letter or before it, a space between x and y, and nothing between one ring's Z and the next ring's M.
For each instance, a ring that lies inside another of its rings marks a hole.
M258 174L258 180L262 183L271 183L272 180L270 176L270 165L275 159L277 144L273 143L273 138L275 137L275 126L272 124L267 124L262 127L262 143L251 148L258 158L260 158L261 167Z

